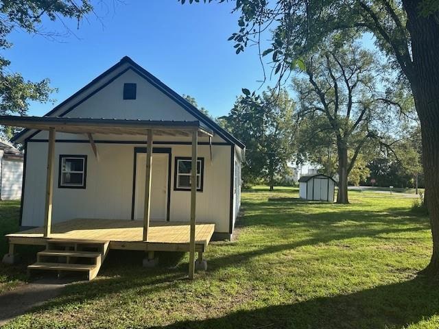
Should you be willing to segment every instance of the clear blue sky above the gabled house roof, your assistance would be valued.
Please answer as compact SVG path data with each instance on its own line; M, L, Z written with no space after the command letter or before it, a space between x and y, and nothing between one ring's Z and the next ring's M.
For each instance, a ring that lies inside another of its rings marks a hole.
M227 41L237 29L232 9L233 3L126 0L115 8L98 6L99 19L88 16L80 29L75 21L64 21L75 35L51 40L13 32L14 46L5 57L12 61L11 71L29 80L49 77L59 89L53 95L56 105L127 55L220 116L230 110L241 88L258 88L263 77L257 48L236 55L233 42ZM43 28L67 32L60 22L44 21ZM54 105L32 103L29 115L43 115Z

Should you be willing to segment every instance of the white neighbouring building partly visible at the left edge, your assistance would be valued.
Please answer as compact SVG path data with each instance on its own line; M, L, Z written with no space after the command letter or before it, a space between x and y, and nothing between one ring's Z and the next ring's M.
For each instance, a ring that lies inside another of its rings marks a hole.
M23 154L12 144L0 141L0 200L21 198Z

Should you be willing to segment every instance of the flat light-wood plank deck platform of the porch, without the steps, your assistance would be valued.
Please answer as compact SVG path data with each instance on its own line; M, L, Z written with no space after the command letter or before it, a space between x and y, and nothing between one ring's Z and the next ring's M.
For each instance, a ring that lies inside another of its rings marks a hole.
M73 219L54 223L49 237L43 228L7 234L14 245L46 245L50 241L109 243L109 249L189 252L189 222L151 221L148 241L143 239L143 221L115 219ZM195 251L204 252L211 241L215 224L197 223Z

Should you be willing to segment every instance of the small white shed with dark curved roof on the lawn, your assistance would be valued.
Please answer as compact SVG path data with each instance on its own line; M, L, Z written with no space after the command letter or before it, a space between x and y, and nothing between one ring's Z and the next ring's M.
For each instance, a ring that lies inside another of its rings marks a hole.
M299 178L299 196L315 201L334 201L335 180L327 175L316 173Z

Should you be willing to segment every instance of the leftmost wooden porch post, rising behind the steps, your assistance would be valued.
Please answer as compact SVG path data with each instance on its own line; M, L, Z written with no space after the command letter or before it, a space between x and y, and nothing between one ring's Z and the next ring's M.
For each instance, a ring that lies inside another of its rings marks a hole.
M55 128L49 128L49 143L47 145L47 178L46 204L44 214L44 236L50 235L52 222L52 197L54 195L54 160L55 160Z

